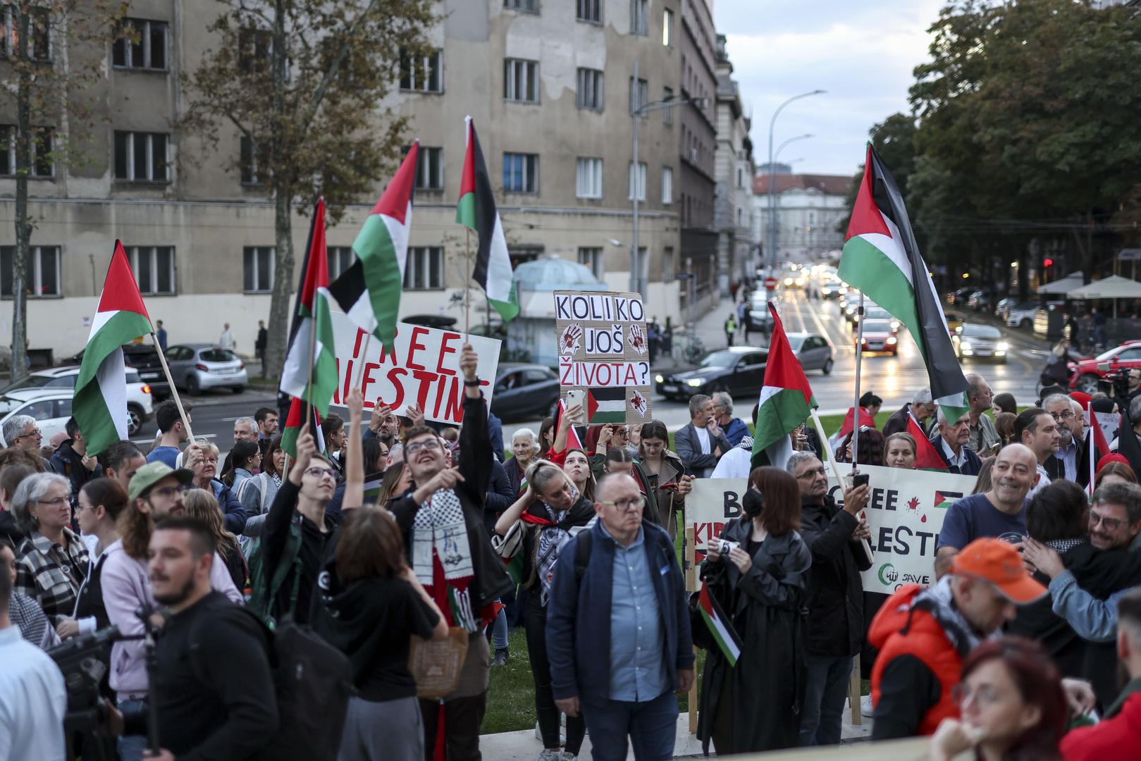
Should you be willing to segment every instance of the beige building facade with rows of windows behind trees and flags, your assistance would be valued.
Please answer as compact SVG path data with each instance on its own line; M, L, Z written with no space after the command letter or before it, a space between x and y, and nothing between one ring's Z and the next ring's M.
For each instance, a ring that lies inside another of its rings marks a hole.
M412 118L411 137L419 138L422 151L438 149L434 163L421 161L421 179L430 187L415 196L410 241L414 272L406 281L402 314L463 313L470 265L454 204L466 115L474 118L479 133L512 259L555 254L586 264L615 289L628 288L630 110L631 99L642 94L631 82L633 64L637 58L649 99L666 89L681 91L679 32L666 32L671 21L680 26L680 1L440 2L444 21L430 31L440 49L438 79L427 88L438 91L423 91L420 82L407 89L394 86L378 104L380 113L393 108ZM193 71L216 44L207 26L219 8L208 0L136 0L129 16L151 23L145 37L154 49L132 51L124 65L108 42L105 55L94 57L104 76L89 92L96 103L94 128L78 143L88 161L60 164L52 177L30 185L37 220L32 245L41 246L33 253L43 260L39 268L33 261L41 280L31 283L37 289L29 301L32 348L50 348L57 358L82 348L120 238L129 248L151 316L164 322L171 342L217 340L228 322L238 350L252 354L257 321L269 311L273 207L256 184L242 183L233 165L240 155L236 133L221 133L218 151L207 152L199 140L169 131L170 120L187 105L179 75ZM594 8L598 21L580 18L583 13L593 16ZM66 41L56 37L54 52L62 54ZM144 54L139 66L137 57ZM66 59L57 55L56 65ZM163 65L148 65L160 59ZM600 73L588 75L588 87L599 92L597 102L588 98L584 105L581 70ZM66 124L59 127L67 131ZM677 120L662 112L640 126L645 200L639 234L647 307L663 321L681 314L673 277L685 262L677 130ZM130 161L124 161L124 146ZM164 175L163 156L169 162ZM124 171L127 178L116 177ZM385 179L378 178L378 193ZM15 180L0 177L0 246L15 243L14 193ZM331 248L351 245L373 200L362 199L330 227ZM308 220L299 210L293 227L298 259L307 232ZM350 254L341 256L332 256L334 275ZM0 302L0 345L10 342L10 303L7 297ZM474 321L476 315L483 319L483 305L482 293L474 292Z

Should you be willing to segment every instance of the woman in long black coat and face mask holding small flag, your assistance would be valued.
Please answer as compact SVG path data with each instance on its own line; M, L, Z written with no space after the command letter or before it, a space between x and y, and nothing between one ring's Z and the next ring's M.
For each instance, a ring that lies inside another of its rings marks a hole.
M707 753L795 747L804 696L804 598L812 554L796 533L800 489L779 468L756 468L742 500L745 515L726 524L728 556L710 547L702 577L741 637L731 666L698 624L709 655L702 675L697 736Z

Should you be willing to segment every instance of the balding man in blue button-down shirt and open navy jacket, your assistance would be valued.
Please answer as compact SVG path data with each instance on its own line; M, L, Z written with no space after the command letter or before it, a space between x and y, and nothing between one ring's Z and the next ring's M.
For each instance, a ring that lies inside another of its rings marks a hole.
M628 738L639 761L671 759L673 694L694 681L673 542L642 523L630 476L605 477L594 510L599 520L563 548L555 570L547 614L555 703L567 715L583 712L596 761L625 759Z

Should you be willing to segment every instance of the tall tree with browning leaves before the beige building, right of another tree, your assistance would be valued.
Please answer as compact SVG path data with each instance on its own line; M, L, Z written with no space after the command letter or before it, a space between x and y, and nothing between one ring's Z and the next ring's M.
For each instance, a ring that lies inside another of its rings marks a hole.
M276 262L266 375L285 357L293 290L292 211L324 196L335 221L375 193L403 153L406 116L378 105L404 74L422 76L437 21L432 0L222 0L216 47L185 78L176 124L217 149L221 129L242 138L238 171L253 159L274 202ZM419 70L419 71L418 71ZM184 156L184 160L188 159ZM203 156L199 156L202 160Z

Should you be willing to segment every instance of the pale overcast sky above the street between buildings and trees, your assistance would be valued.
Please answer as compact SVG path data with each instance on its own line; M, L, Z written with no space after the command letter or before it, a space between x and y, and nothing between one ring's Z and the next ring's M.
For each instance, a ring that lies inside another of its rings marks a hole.
M794 172L850 175L864 161L873 124L909 112L912 70L928 59L928 27L946 0L710 0L718 32L728 37L734 78L753 114L753 154L768 161L769 120L780 161L803 159Z

